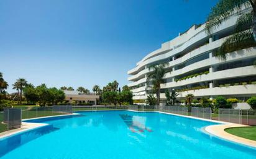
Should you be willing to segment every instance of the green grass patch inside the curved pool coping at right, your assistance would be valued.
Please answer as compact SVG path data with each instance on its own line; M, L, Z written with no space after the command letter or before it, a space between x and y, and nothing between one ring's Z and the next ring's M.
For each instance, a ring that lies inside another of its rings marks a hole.
M226 132L232 135L237 135L245 139L256 141L256 126L253 127L234 127L225 129Z

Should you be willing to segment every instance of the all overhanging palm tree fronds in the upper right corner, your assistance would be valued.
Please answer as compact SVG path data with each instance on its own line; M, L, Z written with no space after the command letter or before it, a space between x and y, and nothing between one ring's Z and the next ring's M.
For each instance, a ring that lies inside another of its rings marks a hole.
M256 46L256 0L221 0L208 16L206 32L211 35L230 15L241 11L242 7L252 9L240 15L235 24L235 33L228 37L217 50L217 58L226 60L227 53ZM256 62L256 61L255 61Z

